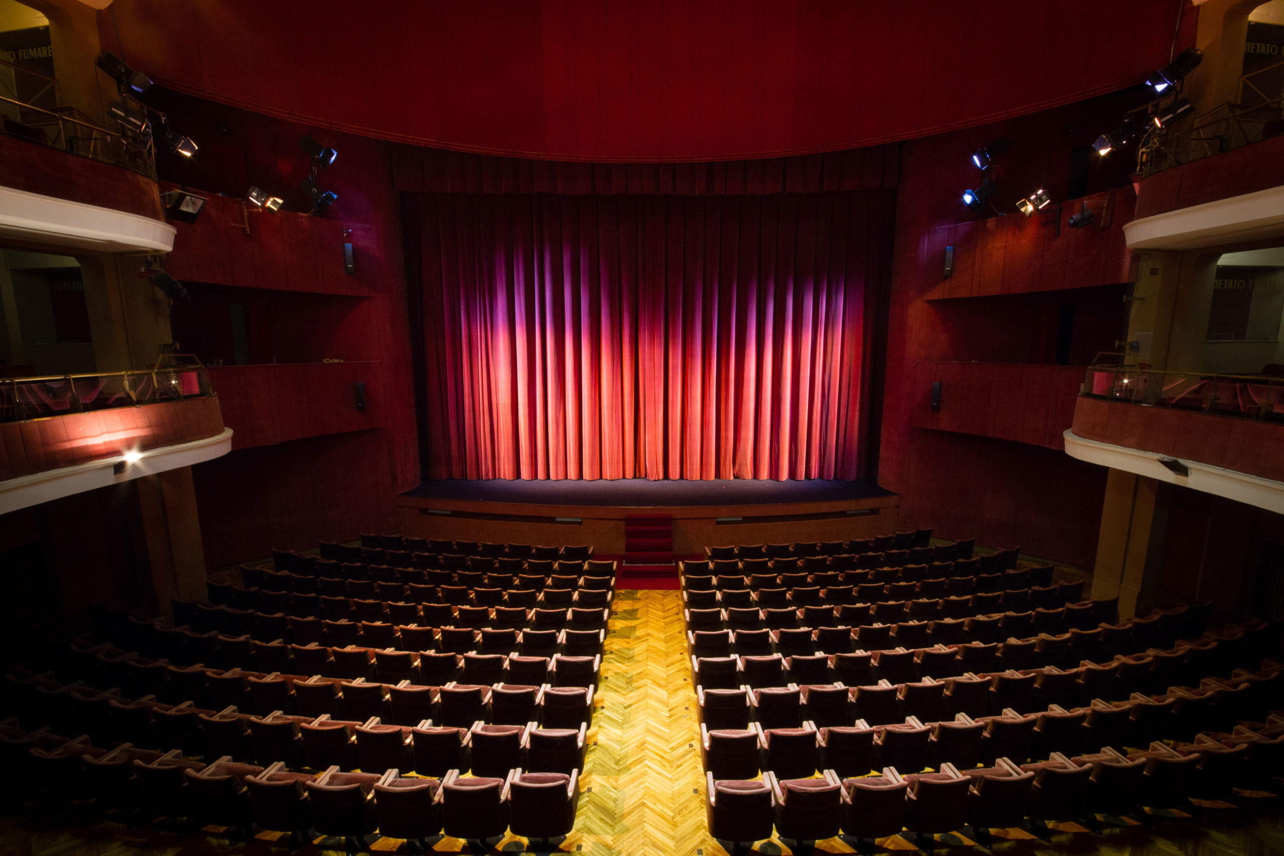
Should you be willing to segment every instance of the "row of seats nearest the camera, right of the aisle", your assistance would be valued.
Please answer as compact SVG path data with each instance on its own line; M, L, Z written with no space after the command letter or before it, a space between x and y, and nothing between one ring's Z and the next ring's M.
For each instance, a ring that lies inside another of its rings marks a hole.
M932 835L969 828L989 844L991 829L1025 821L1081 821L1100 829L1099 816L1138 809L1179 809L1190 798L1224 800L1234 788L1274 787L1284 760L1284 720L1272 717L1231 734L1201 735L1189 744L1152 743L1124 755L1103 748L1089 755L1050 753L1017 764L998 757L981 769L941 764L935 773L844 778L719 779L706 774L705 807L715 838L752 843L773 830L791 847L845 835L865 850L873 839L913 833L923 850ZM912 761L913 762L913 761Z

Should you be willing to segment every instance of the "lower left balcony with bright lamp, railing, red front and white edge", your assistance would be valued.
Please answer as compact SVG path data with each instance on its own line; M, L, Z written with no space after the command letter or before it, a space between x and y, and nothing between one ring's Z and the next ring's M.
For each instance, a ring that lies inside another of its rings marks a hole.
M230 448L202 367L0 381L0 513Z

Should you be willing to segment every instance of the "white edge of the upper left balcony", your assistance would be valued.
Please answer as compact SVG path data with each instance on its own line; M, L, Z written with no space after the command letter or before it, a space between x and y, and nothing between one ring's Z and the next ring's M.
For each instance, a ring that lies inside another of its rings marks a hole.
M0 237L105 253L173 249L164 221L0 186Z

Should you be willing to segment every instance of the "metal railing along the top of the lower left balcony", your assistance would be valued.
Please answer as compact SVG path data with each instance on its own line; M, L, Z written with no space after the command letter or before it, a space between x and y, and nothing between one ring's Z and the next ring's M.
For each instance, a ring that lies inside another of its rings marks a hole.
M0 422L213 395L204 366L0 380Z

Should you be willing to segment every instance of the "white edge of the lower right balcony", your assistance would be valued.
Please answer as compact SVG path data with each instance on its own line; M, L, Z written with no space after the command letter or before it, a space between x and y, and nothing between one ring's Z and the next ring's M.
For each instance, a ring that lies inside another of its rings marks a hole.
M1284 513L1284 481L1274 481L1252 476L1247 472L1213 467L1198 461L1177 458L1190 471L1190 475L1180 476L1172 470L1159 463L1159 458L1166 454L1130 449L1125 445L1113 445L1089 440L1066 429L1066 454L1089 463L1099 463L1103 467L1135 472L1139 476L1158 479L1192 490L1202 490L1226 499L1234 499L1248 506L1256 506L1267 511Z

